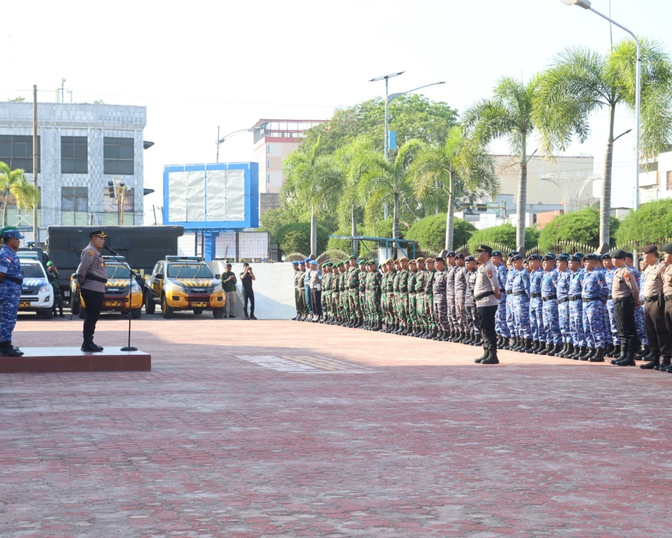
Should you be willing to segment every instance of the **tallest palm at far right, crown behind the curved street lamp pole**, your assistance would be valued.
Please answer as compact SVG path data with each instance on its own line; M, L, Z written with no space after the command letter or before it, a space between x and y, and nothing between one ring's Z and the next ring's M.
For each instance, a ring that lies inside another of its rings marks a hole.
M566 48L542 73L534 101L534 118L547 159L565 150L574 137L583 143L591 134L589 118L607 110L609 130L602 171L599 242L602 252L610 246L612 205L612 163L616 106L634 110L636 91L636 44L625 40L604 56L585 47ZM656 157L663 151L672 129L670 108L672 64L660 44L642 40L642 114L640 153Z

